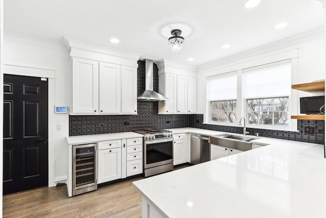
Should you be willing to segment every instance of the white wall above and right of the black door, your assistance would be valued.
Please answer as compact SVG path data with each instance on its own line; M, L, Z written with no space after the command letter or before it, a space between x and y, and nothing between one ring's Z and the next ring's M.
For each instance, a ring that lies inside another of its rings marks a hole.
M55 88L50 90L49 87L49 95L54 96L56 105L70 105L69 52L62 43L5 33L4 50L2 61L6 65L54 70ZM54 160L55 164L52 166L49 162L49 186L54 186L57 182L65 182L67 176L69 115L54 114L51 108L49 111L53 113L53 118L49 116L49 160ZM61 125L61 130L56 129L57 125ZM50 141L51 138L54 140Z

